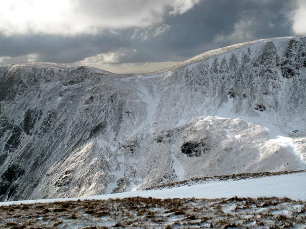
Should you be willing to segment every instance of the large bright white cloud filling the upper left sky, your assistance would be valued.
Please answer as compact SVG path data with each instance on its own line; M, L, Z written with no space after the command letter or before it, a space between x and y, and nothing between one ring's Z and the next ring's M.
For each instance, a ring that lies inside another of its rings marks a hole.
M0 0L0 33L74 35L147 27L183 14L200 0Z

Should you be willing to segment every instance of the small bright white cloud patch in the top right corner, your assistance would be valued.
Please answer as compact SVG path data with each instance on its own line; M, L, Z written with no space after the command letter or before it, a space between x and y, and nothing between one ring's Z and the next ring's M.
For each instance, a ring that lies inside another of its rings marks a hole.
M296 34L306 34L306 1L298 0L299 8L293 18L293 30Z

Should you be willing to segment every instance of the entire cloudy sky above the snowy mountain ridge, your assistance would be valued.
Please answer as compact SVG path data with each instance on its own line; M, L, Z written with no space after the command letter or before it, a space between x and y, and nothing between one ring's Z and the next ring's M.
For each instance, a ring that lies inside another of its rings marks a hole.
M148 72L243 41L306 34L306 0L0 0L0 65Z

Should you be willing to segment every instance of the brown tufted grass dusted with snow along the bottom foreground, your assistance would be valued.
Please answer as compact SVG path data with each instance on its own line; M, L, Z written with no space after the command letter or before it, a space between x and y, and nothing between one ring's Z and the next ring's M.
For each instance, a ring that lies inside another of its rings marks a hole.
M132 197L0 207L3 229L305 228L306 201Z

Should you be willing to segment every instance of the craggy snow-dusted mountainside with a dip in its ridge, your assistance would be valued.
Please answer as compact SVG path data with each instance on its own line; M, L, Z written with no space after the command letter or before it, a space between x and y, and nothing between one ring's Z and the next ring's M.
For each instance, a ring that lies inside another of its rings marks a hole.
M142 75L0 67L0 200L306 168L306 36Z

